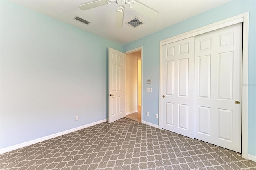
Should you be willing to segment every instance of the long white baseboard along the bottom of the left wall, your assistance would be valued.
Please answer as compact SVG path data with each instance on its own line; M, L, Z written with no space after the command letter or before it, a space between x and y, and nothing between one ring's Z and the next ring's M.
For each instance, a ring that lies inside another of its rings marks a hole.
M30 140L28 142L24 142L24 143L21 143L21 144L16 144L16 145L13 145L13 146L9 146L7 148L2 148L0 149L0 154L3 154L3 153L6 153L6 152L9 152L9 151L12 151L12 150L16 150L16 149L19 149L19 148L23 148L25 146L29 146L29 145L32 145L32 144L36 144L38 142L42 142L44 140L48 140L48 139L52 139L52 138L56 138L58 136L62 136L64 134L69 134L71 132L75 132L77 130L81 130L81 129L84 129L84 128L88 128L90 126L94 126L96 124L100 124L100 123L103 123L103 122L106 122L108 121L108 119L103 119L103 120L100 120L100 121L97 121L97 122L93 122L93 123L90 123L90 124L86 124L84 126L79 126L77 128L73 128L73 129L70 129L70 130L65 130L63 132L59 132L59 133L56 133L56 134L52 134L52 135L49 135L49 136L44 136L42 138L38 138L38 139L34 139L34 140Z

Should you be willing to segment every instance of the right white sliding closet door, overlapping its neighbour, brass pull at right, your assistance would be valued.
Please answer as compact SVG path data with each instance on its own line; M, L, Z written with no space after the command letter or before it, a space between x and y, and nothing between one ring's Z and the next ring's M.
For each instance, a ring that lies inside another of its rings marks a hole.
M196 36L195 138L241 153L241 102L242 23Z

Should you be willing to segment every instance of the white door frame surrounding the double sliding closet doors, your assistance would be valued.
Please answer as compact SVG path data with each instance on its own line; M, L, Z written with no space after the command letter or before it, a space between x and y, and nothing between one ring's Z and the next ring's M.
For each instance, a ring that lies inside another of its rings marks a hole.
M162 45L243 22L242 84L248 84L249 12L161 40L159 43L159 128L162 129ZM242 86L242 157L248 158L248 87Z

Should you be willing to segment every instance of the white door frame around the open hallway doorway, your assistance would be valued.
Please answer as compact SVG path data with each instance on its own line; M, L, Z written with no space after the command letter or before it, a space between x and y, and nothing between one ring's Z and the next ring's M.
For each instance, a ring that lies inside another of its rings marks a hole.
M129 54L129 53L132 53L132 52L137 52L137 51L141 51L141 105L142 105L142 102L143 102L143 82L142 82L142 80L143 80L143 62L142 62L142 54L143 54L143 47L142 46L140 46L140 47L138 47L138 48L134 48L134 49L132 49L132 50L129 50L129 51L126 51L126 52L124 52L124 54L125 54L125 60L126 60L126 54ZM127 90L126 90L126 62L125 62L125 101L127 101L126 100L126 92L127 92ZM142 122L142 110L143 110L143 108L141 107L141 116L140 116L140 122Z

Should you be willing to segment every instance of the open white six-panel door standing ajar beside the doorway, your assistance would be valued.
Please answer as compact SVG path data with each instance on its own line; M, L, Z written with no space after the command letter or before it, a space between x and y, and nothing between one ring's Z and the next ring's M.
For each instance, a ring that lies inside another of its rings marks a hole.
M125 54L108 48L108 122L125 116Z

